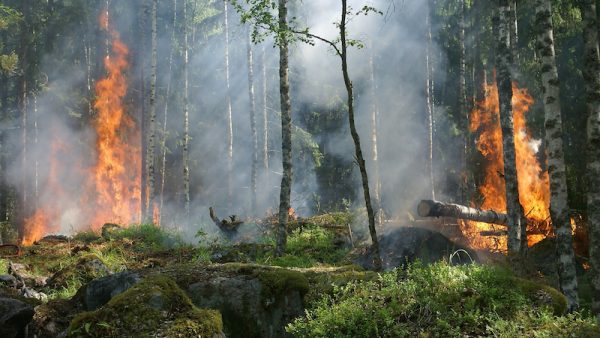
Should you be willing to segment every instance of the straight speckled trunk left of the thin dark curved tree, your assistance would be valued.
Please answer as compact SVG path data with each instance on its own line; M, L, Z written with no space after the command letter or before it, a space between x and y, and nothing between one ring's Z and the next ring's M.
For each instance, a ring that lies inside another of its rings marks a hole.
M287 242L287 222L292 188L292 104L288 66L287 0L279 0L279 95L281 102L281 159L283 175L279 194L279 226L276 253L282 256Z

